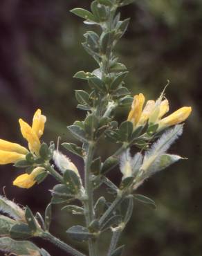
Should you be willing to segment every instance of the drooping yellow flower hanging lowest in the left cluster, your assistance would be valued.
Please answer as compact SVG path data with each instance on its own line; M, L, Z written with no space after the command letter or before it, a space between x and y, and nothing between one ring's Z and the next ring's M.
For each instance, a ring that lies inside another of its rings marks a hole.
M35 181L35 178L41 173L44 172L43 167L36 167L33 172L30 174L21 174L17 176L15 181L13 181L13 185L19 187L19 188L31 188L37 181Z

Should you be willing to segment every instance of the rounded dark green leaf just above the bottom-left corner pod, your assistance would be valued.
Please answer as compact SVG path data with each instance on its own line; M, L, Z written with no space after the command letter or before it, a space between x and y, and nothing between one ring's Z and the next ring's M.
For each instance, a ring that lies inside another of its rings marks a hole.
M27 224L15 224L10 230L10 237L12 239L28 239L33 237L33 232Z

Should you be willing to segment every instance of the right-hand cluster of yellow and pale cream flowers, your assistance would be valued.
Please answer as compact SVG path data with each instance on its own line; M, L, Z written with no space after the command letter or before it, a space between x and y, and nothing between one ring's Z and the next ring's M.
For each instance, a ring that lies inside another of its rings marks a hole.
M144 103L145 96L143 93L134 96L134 101L128 116L128 120L133 123L134 128L145 125L148 121L149 124L158 124L157 131L160 131L185 121L192 111L191 107L181 107L181 109L163 118L169 111L169 102L167 99L163 100L163 93L156 102L154 100L148 100L143 108Z

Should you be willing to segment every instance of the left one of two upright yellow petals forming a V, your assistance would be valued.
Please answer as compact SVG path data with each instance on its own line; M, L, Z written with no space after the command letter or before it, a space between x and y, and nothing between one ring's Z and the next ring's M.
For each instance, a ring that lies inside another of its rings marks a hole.
M24 120L19 119L19 125L22 136L28 141L30 151L38 154L41 144L37 134L33 131L30 125L28 125L28 123L24 122Z

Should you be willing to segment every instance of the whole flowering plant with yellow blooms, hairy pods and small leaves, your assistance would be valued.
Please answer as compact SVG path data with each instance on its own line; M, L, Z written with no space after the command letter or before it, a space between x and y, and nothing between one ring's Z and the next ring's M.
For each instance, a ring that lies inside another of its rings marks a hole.
M74 75L89 84L86 91L75 92L79 102L77 107L86 111L86 116L84 120L68 126L78 145L62 143L65 149L84 160L84 181L75 164L55 149L54 143L48 145L40 142L46 122L40 109L34 114L32 126L19 119L21 134L28 142L28 149L0 140L0 164L13 163L15 167L25 170L24 174L17 176L13 185L28 189L43 182L48 175L58 182L50 190L52 199L44 217L39 212L33 214L30 208L21 208L0 197L0 249L6 253L48 256L46 250L27 241L32 237L41 237L71 255L84 256L84 253L50 234L52 207L58 204L68 213L84 216L85 226L72 226L66 233L76 241L86 242L90 256L99 255L98 244L104 232L111 232L107 256L122 255L124 246L118 246L118 240L131 217L134 200L155 206L152 199L137 194L137 188L149 176L182 159L181 156L168 154L167 150L181 136L182 122L190 115L191 107L182 107L164 117L169 111L165 91L156 101L148 100L146 104L143 93L131 97L124 82L127 68L118 62L113 53L118 39L129 24L129 19L121 20L120 13L116 11L132 1L95 0L91 3L91 11L82 8L71 10L84 18L84 24L100 28L100 33L86 32L82 44L97 62L98 68L93 72L79 71ZM126 120L118 124L115 114L120 107L131 107L131 111ZM96 150L100 140L106 143L111 140L118 147L104 160ZM134 156L130 152L132 146L137 149ZM122 173L118 186L106 176L117 166ZM113 194L112 202L108 202L103 195L95 198L95 190L101 185L107 186Z

